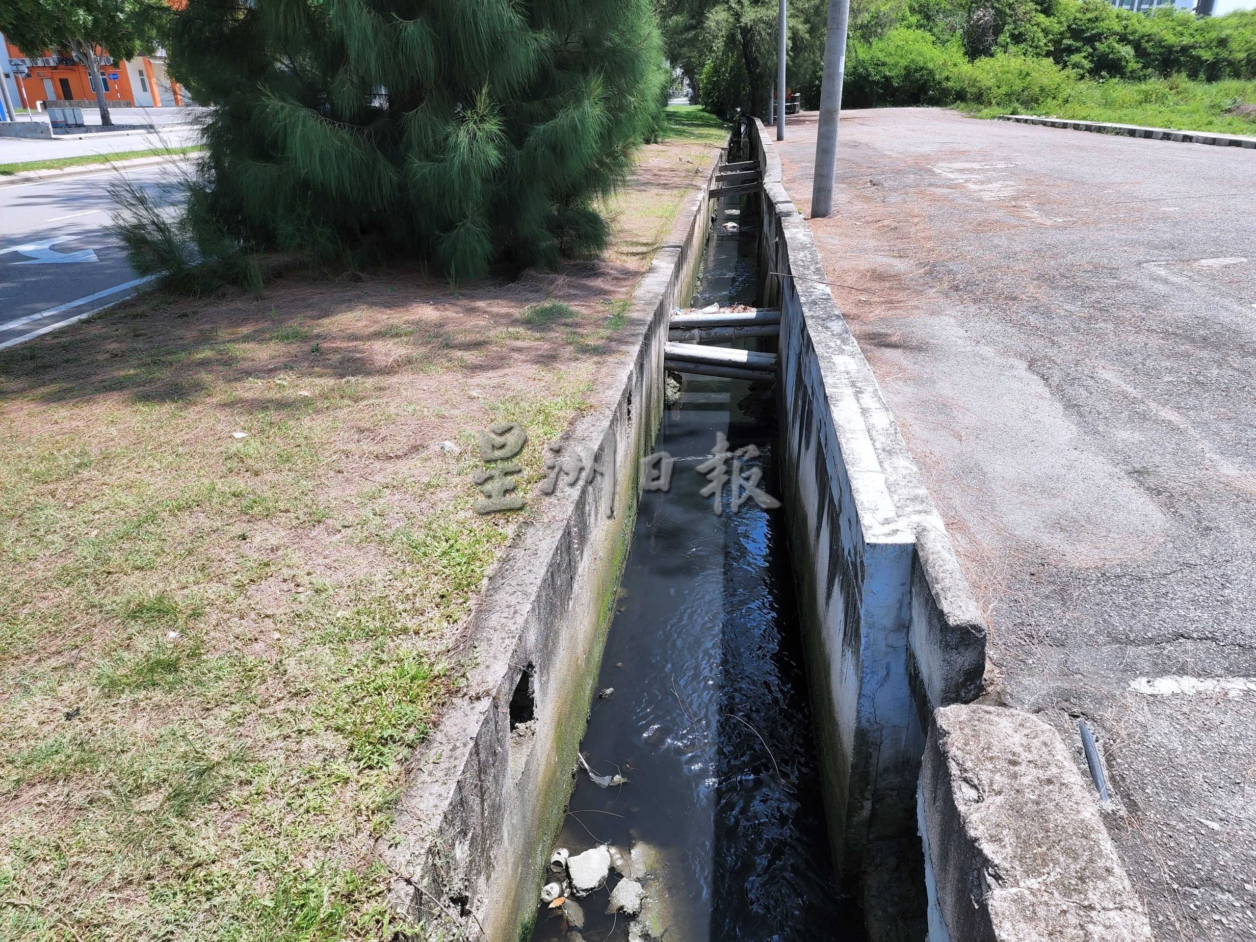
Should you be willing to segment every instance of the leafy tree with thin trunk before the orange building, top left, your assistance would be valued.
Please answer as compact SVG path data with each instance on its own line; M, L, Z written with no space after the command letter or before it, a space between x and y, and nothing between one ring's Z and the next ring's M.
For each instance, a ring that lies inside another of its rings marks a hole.
M0 33L26 55L68 50L87 65L100 108L100 123L113 124L104 100L97 49L116 60L152 53L161 43L170 10L161 0L5 0Z

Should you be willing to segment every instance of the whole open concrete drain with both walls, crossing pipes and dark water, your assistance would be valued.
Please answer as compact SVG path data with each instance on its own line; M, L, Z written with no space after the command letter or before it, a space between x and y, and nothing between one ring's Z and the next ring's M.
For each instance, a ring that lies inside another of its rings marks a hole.
M411 762L393 906L492 942L1149 939L1069 749L971 705L980 612L757 122L632 315L564 442L605 474L494 574ZM769 500L716 515L712 451Z

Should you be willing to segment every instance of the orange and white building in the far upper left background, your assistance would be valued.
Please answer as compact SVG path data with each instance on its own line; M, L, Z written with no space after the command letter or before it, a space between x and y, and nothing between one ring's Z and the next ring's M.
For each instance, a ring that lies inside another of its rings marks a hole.
M20 107L36 108L39 102L48 103L44 108L63 103L79 108L97 107L95 88L87 65L67 54L45 50L40 55L28 57L13 43L6 45L14 65L18 94L23 99ZM109 104L119 108L168 108L183 103L178 85L166 79L162 53L153 58L141 55L132 62L116 63L98 48L97 67L104 85L104 100ZM14 102L14 106L18 107L18 103Z

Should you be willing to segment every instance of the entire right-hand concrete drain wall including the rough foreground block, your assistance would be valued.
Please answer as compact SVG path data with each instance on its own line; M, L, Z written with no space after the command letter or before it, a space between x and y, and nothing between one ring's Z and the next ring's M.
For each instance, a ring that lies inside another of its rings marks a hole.
M976 599L780 158L759 121L747 131L767 300L781 308L781 480L825 805L869 938L1149 941L1059 735L1027 713L963 706L985 674Z

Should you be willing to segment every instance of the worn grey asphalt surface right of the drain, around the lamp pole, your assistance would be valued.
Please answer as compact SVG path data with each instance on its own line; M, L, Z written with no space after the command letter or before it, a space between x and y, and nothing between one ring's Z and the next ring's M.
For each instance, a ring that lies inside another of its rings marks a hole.
M814 114L786 138L806 214ZM835 202L809 224L997 696L1083 770L1096 728L1158 939L1256 937L1256 151L848 112Z

